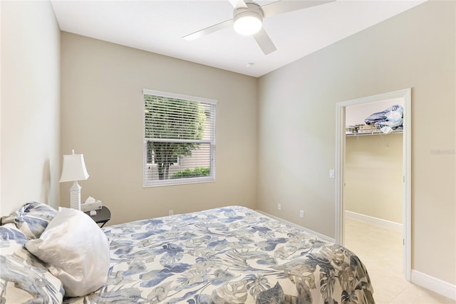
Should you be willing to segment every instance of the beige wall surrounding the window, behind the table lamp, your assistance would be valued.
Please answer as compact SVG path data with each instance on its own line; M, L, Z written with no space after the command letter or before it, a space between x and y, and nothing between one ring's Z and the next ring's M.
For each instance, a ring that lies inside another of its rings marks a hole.
M257 208L257 78L62 33L63 153L83 153L82 199L110 224L227 205ZM142 188L142 89L217 103L216 181ZM61 186L68 206L69 183Z

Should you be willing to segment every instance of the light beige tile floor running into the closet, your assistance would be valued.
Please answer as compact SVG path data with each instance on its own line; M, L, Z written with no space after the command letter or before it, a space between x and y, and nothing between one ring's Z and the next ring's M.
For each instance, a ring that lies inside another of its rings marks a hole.
M366 265L376 304L456 303L405 280L402 233L346 218L345 245Z

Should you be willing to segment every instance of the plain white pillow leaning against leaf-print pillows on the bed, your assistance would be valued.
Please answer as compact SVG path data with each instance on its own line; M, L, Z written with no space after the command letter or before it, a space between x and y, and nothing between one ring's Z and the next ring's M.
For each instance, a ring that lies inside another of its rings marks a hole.
M82 211L59 208L40 238L28 240L26 248L48 263L67 297L92 293L108 279L108 238Z

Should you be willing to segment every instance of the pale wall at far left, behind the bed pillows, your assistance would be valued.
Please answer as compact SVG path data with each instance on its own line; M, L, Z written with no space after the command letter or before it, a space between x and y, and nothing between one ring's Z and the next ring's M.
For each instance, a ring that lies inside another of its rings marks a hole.
M48 1L1 1L1 210L58 206L60 30Z

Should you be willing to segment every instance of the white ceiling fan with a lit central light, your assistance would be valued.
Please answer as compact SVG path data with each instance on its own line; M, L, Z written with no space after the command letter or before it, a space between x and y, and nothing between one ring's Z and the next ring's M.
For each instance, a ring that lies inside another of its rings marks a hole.
M214 33L228 26L233 26L239 34L252 35L265 55L276 51L276 46L263 28L263 19L270 16L298 11L319 4L326 4L336 0L299 0L299 1L275 1L264 6L255 2L244 0L229 0L234 6L233 19L214 24L206 29L183 36L185 40L195 40L202 36Z

